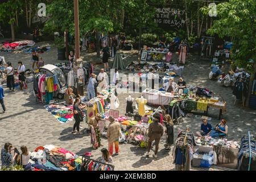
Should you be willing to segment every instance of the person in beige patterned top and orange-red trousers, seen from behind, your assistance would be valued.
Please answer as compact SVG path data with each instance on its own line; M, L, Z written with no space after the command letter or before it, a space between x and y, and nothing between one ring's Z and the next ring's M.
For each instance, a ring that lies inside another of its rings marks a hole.
M109 152L110 155L113 155L113 146L115 144L115 155L118 155L119 152L119 136L121 132L119 122L110 116L109 117L109 126L107 131L108 143L109 143Z

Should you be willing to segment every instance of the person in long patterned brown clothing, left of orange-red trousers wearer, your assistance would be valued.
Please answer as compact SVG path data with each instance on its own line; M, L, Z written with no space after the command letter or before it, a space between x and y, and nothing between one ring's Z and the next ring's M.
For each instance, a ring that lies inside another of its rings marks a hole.
M101 132L100 129L98 127L98 121L100 121L101 119L101 115L97 114L95 117L91 118L89 121L89 126L92 128L92 132L91 132L91 139L90 142L93 145L94 149L97 149L100 146L103 146L101 144Z

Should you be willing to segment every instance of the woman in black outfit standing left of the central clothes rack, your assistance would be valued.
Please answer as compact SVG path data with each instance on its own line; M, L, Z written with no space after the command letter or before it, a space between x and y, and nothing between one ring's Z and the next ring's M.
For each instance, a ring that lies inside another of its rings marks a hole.
M80 122L82 121L82 110L84 109L84 107L80 107L80 98L76 98L75 102L74 102L74 106L73 106L73 113L74 113L74 119L75 119L75 124L73 126L73 131L72 133L76 133L75 129L77 130L77 134L81 134L81 132L79 131L79 127L80 127Z

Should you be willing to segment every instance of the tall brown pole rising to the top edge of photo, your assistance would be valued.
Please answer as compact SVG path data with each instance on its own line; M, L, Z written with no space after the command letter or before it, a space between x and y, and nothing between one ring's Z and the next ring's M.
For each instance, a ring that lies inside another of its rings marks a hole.
M80 36L79 36L79 2L74 0L74 18L75 18L75 65L73 66L73 71L75 74L75 80L77 83L77 94L84 96L84 85L79 82L79 77L77 74L77 69L79 69L82 59L80 59Z

